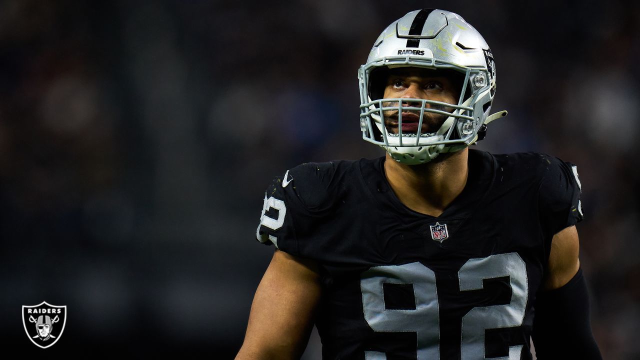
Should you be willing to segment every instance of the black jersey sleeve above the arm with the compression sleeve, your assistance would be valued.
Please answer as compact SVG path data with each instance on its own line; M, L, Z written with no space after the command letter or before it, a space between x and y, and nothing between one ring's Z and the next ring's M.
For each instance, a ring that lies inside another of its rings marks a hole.
M543 232L553 236L582 220L577 166L544 156L547 167L540 184L539 209Z

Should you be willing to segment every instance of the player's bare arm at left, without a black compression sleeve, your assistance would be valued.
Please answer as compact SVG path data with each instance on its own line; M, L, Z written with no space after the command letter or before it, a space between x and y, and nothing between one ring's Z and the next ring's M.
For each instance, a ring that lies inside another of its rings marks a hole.
M320 291L313 261L276 250L255 292L236 360L299 359L313 327Z

